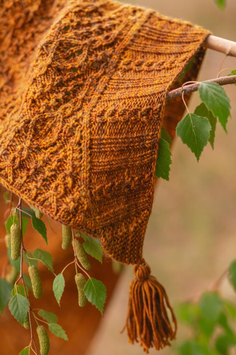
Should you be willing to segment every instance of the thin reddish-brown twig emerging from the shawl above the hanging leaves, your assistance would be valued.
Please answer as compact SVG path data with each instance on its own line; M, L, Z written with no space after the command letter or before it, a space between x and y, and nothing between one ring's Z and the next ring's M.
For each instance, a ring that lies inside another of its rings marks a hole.
M222 76L220 78L215 78L211 80L205 80L204 82L213 82L213 83L218 83L219 85L227 85L227 84L234 84L236 83L236 75L231 75L231 76ZM200 83L194 83L190 85L185 85L184 86L184 94L189 94L190 92L194 92L198 90ZM166 95L166 99L173 99L175 97L181 96L183 92L182 87L178 89L174 89L172 91L169 91Z

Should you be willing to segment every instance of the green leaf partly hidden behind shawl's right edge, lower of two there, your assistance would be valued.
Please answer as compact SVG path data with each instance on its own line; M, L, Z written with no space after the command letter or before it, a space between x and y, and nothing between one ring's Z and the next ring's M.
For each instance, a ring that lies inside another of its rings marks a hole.
M171 155L169 143L163 138L160 138L155 170L157 178L169 180L169 171L171 170L169 166L172 164Z

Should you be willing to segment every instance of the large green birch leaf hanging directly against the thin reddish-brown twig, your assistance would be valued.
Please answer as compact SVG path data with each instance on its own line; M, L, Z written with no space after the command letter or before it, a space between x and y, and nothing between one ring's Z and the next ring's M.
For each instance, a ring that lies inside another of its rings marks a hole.
M198 92L202 102L219 122L226 132L226 123L230 115L230 99L225 90L217 83L201 82Z

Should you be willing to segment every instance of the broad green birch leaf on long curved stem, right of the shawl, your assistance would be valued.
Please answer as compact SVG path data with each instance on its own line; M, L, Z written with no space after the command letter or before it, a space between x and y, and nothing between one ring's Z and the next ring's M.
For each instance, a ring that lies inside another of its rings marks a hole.
M197 161L207 145L211 125L206 117L188 113L176 127L176 134L195 154Z

